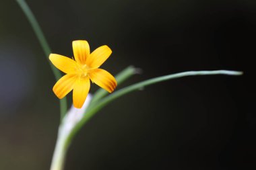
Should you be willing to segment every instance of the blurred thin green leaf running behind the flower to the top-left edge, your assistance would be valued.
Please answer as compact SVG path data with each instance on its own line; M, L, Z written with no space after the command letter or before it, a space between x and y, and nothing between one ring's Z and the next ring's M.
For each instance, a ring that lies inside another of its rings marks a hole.
M46 38L44 37L44 34L42 33L42 30L36 21L36 17L34 17L34 14L30 10L30 7L28 7L28 4L24 0L16 0L18 4L20 5L20 8L25 13L26 17L28 18L28 21L30 22L30 25L32 26L32 29L34 30L34 33L36 34L36 37L38 38L40 45L42 46L42 50L44 50L44 54L49 61L49 64L51 66L51 69L53 71L53 74L55 76L56 80L59 80L61 78L61 72L56 69L49 60L49 54L51 54L51 48L49 47L49 44L46 41ZM67 99L64 97L60 100L60 109L61 109L61 120L65 116L65 113L67 112Z

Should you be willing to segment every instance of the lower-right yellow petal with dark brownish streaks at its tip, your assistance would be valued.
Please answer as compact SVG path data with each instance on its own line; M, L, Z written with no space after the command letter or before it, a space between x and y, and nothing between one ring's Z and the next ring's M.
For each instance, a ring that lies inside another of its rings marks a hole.
M91 70L89 77L92 82L96 83L98 86L102 87L109 93L114 91L115 87L117 87L117 81L115 77L103 69Z

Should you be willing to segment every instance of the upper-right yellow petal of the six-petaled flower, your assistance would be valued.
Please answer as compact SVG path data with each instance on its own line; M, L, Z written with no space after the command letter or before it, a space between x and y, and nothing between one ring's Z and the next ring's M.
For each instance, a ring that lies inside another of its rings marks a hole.
M86 65L90 68L98 68L108 59L112 50L108 46L100 46L86 60Z

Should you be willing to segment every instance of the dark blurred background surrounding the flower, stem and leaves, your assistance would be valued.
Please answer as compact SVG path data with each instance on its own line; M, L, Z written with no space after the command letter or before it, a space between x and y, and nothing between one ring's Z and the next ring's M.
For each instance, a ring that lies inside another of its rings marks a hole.
M54 53L72 56L71 41L88 40L92 50L112 48L102 68L113 75L129 65L143 70L118 89L181 71L245 73L175 79L119 98L77 134L65 169L256 168L256 1L27 3ZM0 169L49 169L59 125L55 78L9 0L0 3L0 79Z

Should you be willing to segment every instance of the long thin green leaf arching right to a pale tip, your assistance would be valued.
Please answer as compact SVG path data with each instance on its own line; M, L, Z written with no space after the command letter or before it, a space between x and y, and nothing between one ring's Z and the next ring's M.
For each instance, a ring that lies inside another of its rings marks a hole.
M105 105L110 103L110 101L113 101L113 100L117 99L118 97L121 97L127 93L130 93L131 91L136 91L136 90L139 90L148 85L153 85L155 83L160 83L162 81L168 81L170 79L177 79L177 78L181 78L181 77L188 77L188 76L195 76L195 75L242 75L242 74L243 73L239 72L239 71L225 71L225 70L187 71L187 72L183 72L183 73L176 73L176 74L172 74L172 75L156 77L153 79L148 79L146 81L142 81L140 83L135 83L134 85L130 85L128 87L120 89L119 91L116 91L115 93L112 93L111 95L108 95L107 97L101 99L100 101L98 101L97 105L93 105L94 107L89 106L89 108L86 112L86 115L73 128L73 130L71 131L66 142L67 142L67 144L69 144L71 142L73 136L75 136L75 134L79 131L79 129L82 128L82 126L84 124L86 124L86 122L88 122L88 120L90 120L90 118L92 118L92 116L94 116L94 114L96 114L96 112L98 112L101 108L103 108Z

